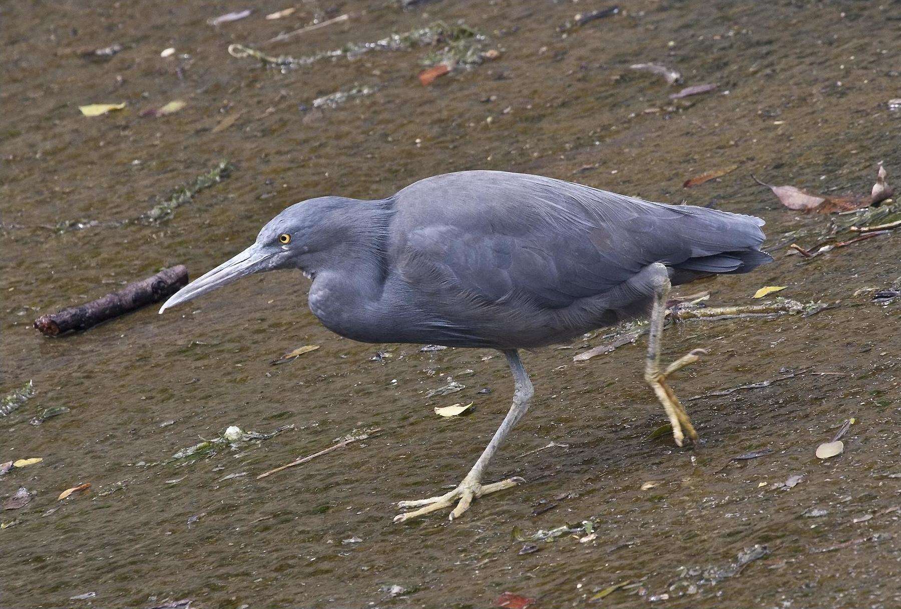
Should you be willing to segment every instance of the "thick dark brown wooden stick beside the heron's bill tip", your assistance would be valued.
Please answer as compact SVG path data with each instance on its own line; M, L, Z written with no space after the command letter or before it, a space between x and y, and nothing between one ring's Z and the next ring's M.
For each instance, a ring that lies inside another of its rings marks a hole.
M187 286L187 268L179 264L177 267L164 268L153 277L135 281L118 292L107 294L90 303L41 315L34 320L34 327L46 336L58 336L72 330L86 330L108 319L168 298L182 286Z

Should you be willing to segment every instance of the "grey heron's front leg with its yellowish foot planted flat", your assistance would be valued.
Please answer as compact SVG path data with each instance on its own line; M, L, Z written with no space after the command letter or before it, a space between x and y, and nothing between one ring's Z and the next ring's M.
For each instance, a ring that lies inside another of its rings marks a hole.
M394 522L403 523L410 518L441 510L445 507L451 507L454 502L457 502L457 507L453 509L450 515L450 519L453 520L454 518L460 517L460 514L463 514L469 509L469 504L472 503L473 499L505 488L510 488L511 486L516 486L520 482L523 482L523 478L521 477L512 477L493 484L482 484L482 474L484 474L485 468L488 466L488 461L494 457L501 442L504 441L516 422L523 418L523 414L529 409L529 402L532 400L532 395L534 394L532 381L529 380L529 375L526 374L525 368L523 368L523 362L519 359L519 354L516 350L505 350L504 355L510 364L510 370L513 372L513 405L510 407L510 412L504 417L504 422L497 428L494 437L488 442L481 457L478 458L476 464L469 470L469 474L467 474L466 477L463 478L463 481L451 492L445 493L444 495L429 497L428 499L399 502L397 506L402 508L419 507L421 505L423 507L419 507L418 510L414 510L413 512L396 515Z

